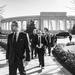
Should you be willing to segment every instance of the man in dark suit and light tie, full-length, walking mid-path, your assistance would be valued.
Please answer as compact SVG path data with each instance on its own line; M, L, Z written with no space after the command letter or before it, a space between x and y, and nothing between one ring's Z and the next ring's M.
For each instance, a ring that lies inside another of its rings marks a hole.
M41 30L38 30L38 36L36 37L36 48L38 53L38 59L39 59L39 66L41 66L41 69L44 68L44 51L45 46L47 44L47 41L45 37L42 35Z

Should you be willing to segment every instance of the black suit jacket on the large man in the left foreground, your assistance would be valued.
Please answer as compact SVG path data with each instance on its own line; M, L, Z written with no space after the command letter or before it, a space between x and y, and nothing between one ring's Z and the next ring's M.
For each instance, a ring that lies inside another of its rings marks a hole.
M13 43L13 35L14 33L8 35L6 59L9 60L10 64L14 63L15 58L22 61L25 57L24 53L26 52L26 61L29 61L30 50L26 33L20 32L16 43Z

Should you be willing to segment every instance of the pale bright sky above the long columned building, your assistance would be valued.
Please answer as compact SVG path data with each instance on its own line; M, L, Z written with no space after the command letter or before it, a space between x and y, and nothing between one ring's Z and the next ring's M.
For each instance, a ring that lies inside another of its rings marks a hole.
M73 0L0 0L6 5L1 14L4 18L40 15L40 12L67 12L75 15Z

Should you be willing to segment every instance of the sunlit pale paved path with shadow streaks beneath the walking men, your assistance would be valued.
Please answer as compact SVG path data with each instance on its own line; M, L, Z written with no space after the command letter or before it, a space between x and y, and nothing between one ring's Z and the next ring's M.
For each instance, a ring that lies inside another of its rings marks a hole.
M0 75L9 75L5 54L5 50L0 47ZM38 65L37 58L31 60L25 67L27 75L72 75L52 55L45 56L45 67L42 71ZM19 72L17 75L19 75Z

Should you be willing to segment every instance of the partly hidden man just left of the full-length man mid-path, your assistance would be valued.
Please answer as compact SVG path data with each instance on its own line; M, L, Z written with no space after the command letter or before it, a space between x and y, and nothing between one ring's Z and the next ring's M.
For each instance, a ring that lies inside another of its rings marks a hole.
M33 33L30 36L30 41L31 41L31 58L33 59L34 57L34 52L35 52L35 57L37 56L37 50L36 50L36 45L35 45L35 39L36 39L36 29L33 30Z

